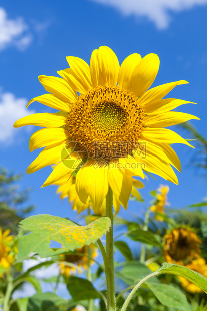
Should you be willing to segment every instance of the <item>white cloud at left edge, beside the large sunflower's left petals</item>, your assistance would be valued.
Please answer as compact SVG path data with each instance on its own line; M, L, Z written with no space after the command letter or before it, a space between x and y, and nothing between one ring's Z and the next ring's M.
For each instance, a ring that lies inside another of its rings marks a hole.
M10 144L18 129L13 127L16 120L35 113L34 110L27 110L26 98L15 98L12 93L0 92L0 142Z

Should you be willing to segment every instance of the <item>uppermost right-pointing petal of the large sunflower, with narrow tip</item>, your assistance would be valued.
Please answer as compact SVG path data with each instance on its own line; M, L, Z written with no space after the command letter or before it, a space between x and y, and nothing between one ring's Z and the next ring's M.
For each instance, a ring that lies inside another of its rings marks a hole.
M144 105L145 109L150 109L151 106L153 107L153 104L155 101L158 101L162 99L164 96L166 96L175 86L186 84L188 83L185 80L165 83L159 86L156 86L150 90L148 90L146 93L144 93L140 97L140 103ZM146 112L147 113L147 112Z

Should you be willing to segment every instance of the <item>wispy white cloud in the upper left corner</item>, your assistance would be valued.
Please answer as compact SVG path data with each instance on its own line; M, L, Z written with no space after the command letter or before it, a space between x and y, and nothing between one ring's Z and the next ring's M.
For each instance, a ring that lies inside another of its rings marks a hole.
M31 42L29 26L21 17L9 19L4 8L0 7L0 51L10 45L25 49Z

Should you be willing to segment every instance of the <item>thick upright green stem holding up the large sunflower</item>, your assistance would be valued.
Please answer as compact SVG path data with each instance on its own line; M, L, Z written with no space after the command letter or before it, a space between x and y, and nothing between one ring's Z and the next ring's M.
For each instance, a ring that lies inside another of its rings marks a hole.
M108 311L115 311L115 281L114 281L114 258L113 258L113 193L109 187L106 196L106 216L110 218L111 227L106 233L106 255L109 265L107 281L107 304Z

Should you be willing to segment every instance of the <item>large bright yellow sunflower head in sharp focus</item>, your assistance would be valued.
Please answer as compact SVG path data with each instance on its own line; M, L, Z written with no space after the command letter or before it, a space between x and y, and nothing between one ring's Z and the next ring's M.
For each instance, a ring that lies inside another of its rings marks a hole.
M86 204L89 196L97 210L109 187L126 208L132 176L144 178L143 171L178 184L171 165L178 171L181 165L170 145L190 144L165 127L199 118L170 111L189 101L162 98L175 86L188 82L149 89L159 69L156 54L141 58L134 53L119 66L115 53L101 46L93 51L90 66L74 56L68 56L67 61L70 68L57 72L62 78L39 76L49 93L28 103L38 101L60 111L29 115L14 124L45 127L30 138L30 151L45 148L27 172L57 164L43 184L47 186L76 170L80 200ZM76 163L74 167L66 164L68 157L70 163Z

